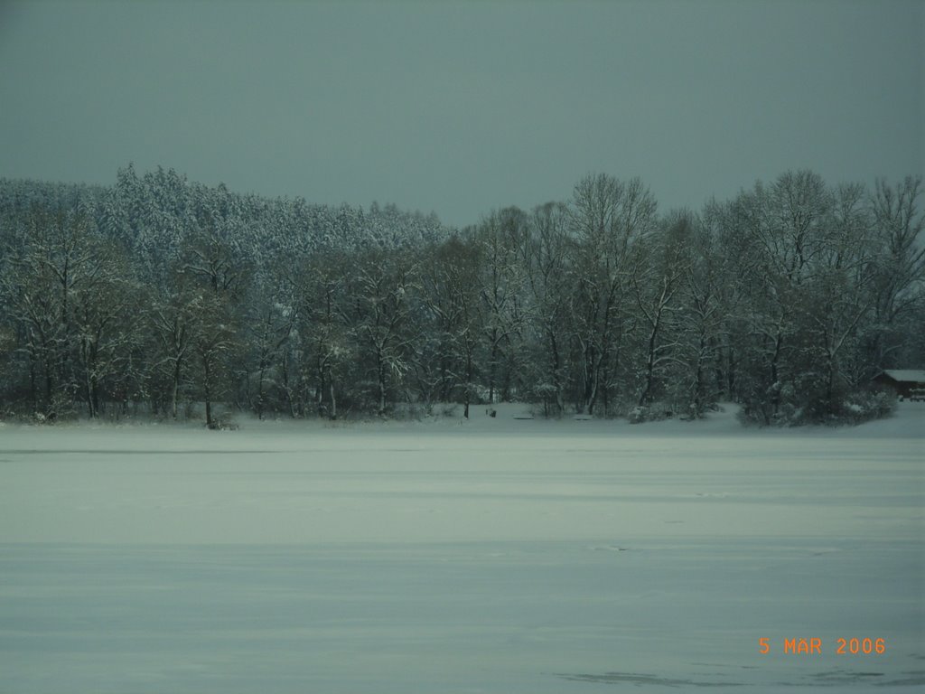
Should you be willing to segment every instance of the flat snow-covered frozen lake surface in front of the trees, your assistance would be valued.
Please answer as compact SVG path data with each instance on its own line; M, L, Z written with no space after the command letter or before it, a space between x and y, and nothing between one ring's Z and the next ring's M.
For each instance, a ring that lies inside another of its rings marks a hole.
M478 414L0 426L0 691L925 687L925 406Z

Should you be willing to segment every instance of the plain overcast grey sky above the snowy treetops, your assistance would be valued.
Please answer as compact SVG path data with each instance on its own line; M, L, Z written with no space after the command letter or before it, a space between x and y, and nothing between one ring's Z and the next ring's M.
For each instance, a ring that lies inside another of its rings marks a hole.
M472 223L925 172L925 2L3 2L0 176L176 168Z

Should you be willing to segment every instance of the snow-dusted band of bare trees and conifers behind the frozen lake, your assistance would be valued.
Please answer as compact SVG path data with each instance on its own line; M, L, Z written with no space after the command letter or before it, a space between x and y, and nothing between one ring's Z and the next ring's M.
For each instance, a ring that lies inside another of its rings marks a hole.
M591 175L465 229L121 169L0 180L0 413L858 421L925 365L921 181L806 170L697 212Z

